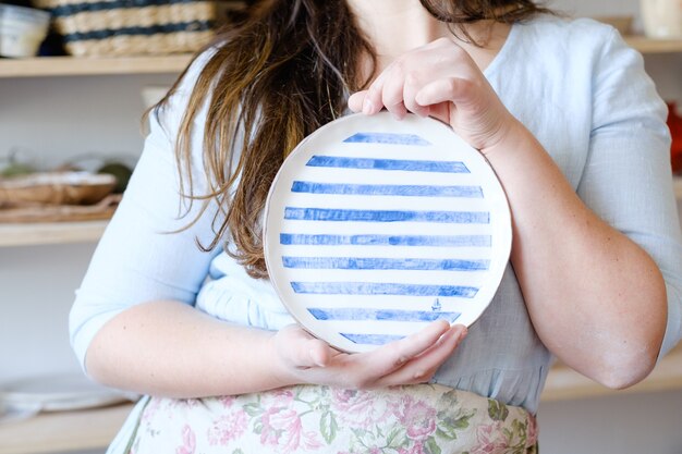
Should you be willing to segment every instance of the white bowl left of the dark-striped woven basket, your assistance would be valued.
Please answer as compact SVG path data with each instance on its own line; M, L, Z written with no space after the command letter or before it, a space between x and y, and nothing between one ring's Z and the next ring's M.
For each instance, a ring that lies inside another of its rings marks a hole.
M50 14L33 8L0 4L0 56L34 57L45 39Z

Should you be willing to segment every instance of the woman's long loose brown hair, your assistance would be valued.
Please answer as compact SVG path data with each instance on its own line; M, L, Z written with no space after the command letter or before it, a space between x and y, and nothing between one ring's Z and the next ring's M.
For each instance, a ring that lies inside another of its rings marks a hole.
M455 33L465 23L513 23L547 11L531 0L421 2ZM214 218L215 237L199 244L202 249L232 242L234 247L226 245L226 251L249 275L267 278L260 217L272 180L299 142L344 112L349 93L369 82L363 79L361 59L369 57L375 68L376 58L344 0L260 1L252 7L249 19L219 34L211 48L176 137L181 194L203 204L198 216L211 200L220 207ZM209 191L195 194L190 137L206 106L202 164Z

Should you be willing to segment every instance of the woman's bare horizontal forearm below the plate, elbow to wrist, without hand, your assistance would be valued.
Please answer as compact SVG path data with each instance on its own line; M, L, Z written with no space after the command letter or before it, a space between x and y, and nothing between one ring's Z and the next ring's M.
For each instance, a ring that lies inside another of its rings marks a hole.
M107 385L172 397L239 394L282 386L273 333L233 326L176 302L115 316L90 344L88 373Z

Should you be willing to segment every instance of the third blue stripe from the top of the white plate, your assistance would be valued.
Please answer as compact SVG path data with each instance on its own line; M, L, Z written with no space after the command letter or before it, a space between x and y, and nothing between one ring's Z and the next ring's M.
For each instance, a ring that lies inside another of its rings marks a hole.
M407 184L349 184L295 181L292 193L362 196L467 197L483 198L480 186L430 186Z

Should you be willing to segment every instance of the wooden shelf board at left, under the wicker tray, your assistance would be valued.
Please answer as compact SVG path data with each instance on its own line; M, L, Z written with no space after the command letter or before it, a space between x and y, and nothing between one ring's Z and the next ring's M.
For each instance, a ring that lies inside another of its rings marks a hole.
M108 221L0 223L0 247L95 243Z

